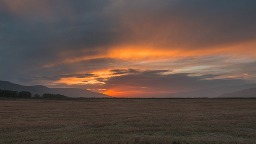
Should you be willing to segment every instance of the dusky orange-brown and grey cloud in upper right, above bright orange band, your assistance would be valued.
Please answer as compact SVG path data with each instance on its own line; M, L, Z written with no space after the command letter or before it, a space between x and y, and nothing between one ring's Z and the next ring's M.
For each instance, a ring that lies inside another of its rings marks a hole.
M121 1L109 11L121 19L129 44L205 49L256 38L255 1Z

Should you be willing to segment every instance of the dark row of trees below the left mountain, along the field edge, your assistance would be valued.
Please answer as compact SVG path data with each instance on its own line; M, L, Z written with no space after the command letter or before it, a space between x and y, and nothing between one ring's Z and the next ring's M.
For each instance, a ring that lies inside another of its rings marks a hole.
M31 92L27 92L27 91L17 92L17 91L12 91L12 90L1 90L0 89L0 97L30 98L30 97L32 97L32 94L31 94ZM38 94L35 94L34 97L41 98L41 96ZM45 93L42 96L42 98L68 98L68 96L63 96L60 94Z

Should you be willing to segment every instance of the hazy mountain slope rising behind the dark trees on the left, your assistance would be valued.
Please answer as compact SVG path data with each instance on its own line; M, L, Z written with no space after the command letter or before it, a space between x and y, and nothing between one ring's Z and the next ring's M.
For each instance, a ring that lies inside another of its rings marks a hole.
M61 94L69 97L112 97L81 88L49 88L43 85L24 86L20 84L13 84L6 81L0 81L0 89L7 89L18 92L29 91L32 93L32 96L34 96L35 94L43 96L43 94L49 93Z

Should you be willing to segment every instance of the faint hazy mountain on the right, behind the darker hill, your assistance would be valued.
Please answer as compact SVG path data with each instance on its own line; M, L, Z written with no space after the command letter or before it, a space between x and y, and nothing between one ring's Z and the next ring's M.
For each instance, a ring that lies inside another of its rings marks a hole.
M162 97L219 97L219 95L222 95L225 93L232 93L232 92L241 91L249 88L256 88L256 84L219 86L215 88L207 88L207 89L201 89L196 91L171 93Z

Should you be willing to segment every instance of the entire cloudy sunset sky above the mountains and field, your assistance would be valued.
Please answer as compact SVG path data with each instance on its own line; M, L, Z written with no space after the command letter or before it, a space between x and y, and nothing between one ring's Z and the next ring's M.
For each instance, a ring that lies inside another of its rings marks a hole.
M154 97L256 83L256 0L0 0L0 80Z

